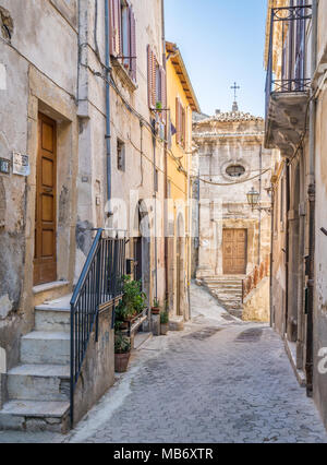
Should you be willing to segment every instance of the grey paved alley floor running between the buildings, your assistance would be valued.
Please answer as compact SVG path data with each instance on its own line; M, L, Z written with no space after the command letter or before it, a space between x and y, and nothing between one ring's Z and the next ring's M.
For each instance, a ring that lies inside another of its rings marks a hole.
M202 288L192 303L183 333L148 342L73 433L52 442L327 442L279 336L230 317Z

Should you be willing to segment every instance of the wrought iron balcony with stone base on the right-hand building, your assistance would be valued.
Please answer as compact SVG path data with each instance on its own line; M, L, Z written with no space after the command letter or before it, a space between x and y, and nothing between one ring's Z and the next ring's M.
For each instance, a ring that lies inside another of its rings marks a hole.
M298 3L304 3L299 0ZM291 156L305 128L311 5L271 10L266 82L266 146Z

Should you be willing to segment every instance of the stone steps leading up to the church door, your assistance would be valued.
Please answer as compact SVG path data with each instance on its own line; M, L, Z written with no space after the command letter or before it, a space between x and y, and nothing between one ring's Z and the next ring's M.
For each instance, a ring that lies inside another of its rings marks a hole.
M201 279L201 285L206 287L213 297L232 315L241 318L242 282L244 276L213 276Z

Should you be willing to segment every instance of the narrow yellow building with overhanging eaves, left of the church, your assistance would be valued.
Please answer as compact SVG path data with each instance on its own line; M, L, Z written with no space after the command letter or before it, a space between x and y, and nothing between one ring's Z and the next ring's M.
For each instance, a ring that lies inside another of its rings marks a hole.
M167 43L166 51L168 118L177 131L167 145L167 295L170 320L182 325L191 315L192 115L199 105L178 46Z

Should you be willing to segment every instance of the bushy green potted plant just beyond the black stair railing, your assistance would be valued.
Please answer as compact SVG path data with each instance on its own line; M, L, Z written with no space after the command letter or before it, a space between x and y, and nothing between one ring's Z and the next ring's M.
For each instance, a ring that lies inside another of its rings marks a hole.
M146 308L146 295L142 291L142 284L138 281L132 281L131 276L123 277L123 297L117 311L117 323L126 321L142 313Z

